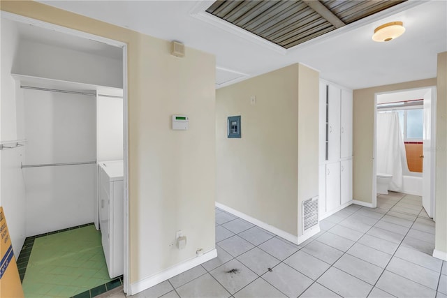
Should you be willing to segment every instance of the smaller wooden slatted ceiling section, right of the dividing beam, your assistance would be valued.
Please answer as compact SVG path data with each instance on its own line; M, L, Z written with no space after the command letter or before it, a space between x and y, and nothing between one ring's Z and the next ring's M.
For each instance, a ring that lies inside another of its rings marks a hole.
M357 1L346 1L346 0L321 0L326 8L332 11L340 20L345 24L351 24L369 15L374 15L374 13L379 13L381 10L390 8L405 0L357 0Z

